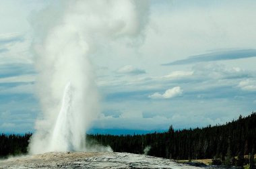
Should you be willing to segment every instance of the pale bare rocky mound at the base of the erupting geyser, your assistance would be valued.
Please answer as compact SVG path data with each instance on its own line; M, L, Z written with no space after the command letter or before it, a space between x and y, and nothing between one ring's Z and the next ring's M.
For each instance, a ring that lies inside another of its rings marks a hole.
M50 152L0 160L0 168L191 168L164 158L117 152Z

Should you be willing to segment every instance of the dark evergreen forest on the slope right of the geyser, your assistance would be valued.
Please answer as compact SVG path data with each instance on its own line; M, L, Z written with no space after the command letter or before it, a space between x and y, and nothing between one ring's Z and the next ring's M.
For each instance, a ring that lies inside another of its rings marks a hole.
M88 135L87 139L109 145L114 152L130 152L171 159L216 158L254 154L256 148L256 113L224 125L175 130L146 135Z

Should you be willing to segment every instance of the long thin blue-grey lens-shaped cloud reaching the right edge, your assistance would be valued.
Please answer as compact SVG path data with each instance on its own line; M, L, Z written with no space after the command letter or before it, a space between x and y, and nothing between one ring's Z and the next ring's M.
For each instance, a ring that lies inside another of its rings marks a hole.
M252 58L256 57L255 49L245 49L245 50L226 50L220 52L211 52L208 54L199 54L195 56L190 56L183 60L176 60L167 64L162 64L162 66L171 65L181 65L181 64L193 64L197 62L211 62L217 60L234 60L241 58Z

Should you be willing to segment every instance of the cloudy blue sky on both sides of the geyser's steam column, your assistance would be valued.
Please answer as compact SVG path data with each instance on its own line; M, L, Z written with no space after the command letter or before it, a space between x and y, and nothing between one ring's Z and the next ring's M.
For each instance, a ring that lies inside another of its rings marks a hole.
M31 23L49 3L0 1L0 132L33 132L40 116ZM203 127L255 111L255 8L256 1L150 1L143 36L90 56L100 95L91 132Z

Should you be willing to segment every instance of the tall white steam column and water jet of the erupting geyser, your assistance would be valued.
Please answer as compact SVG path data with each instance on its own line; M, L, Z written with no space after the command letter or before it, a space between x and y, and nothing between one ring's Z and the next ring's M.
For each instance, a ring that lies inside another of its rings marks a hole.
M54 3L32 21L42 115L30 154L86 150L86 130L99 112L90 55L102 42L141 35L148 18L148 1Z

